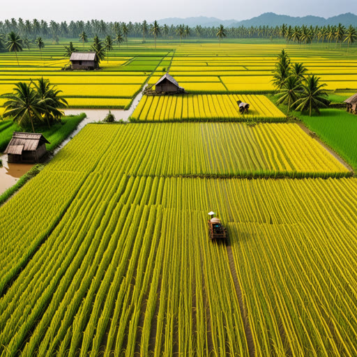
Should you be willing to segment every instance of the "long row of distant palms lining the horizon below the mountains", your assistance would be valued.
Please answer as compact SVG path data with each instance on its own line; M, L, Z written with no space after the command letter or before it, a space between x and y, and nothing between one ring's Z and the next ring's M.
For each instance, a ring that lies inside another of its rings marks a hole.
M123 38L135 37L142 38L157 38L159 35L165 39L172 38L216 38L220 26L203 27L203 26L168 26L164 24L160 26L160 33L155 32L155 27L158 22L149 24L143 22L104 22L103 20L91 21L71 21L69 24L66 21L49 23L44 20L5 20L0 22L0 33L9 33L14 31L22 38L53 38L58 41L58 36L62 38L77 38L81 33L85 32L87 36L94 37L96 35L105 38L106 36L115 37L121 33ZM336 43L347 42L348 45L356 42L357 31L354 26L349 26L346 29L342 24L337 26L231 26L225 29L227 38L285 38L287 43L312 43L312 41L322 43L326 40L328 43L335 41Z

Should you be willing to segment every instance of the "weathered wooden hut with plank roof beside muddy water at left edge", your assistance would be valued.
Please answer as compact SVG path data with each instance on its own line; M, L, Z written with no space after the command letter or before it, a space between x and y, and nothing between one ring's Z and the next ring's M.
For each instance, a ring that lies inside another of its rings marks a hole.
M8 162L40 162L47 153L46 143L50 144L42 134L15 131L4 153Z

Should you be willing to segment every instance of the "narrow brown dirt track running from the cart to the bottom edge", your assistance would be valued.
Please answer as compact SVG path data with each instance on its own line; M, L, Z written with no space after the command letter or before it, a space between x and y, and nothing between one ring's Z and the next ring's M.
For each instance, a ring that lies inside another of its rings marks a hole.
M247 310L245 310L245 306L243 303L242 290L241 290L241 286L239 285L239 282L238 282L238 275L236 273L236 266L234 266L234 257L233 257L233 253L231 251L230 245L227 245L227 255L228 255L228 261L229 261L229 269L231 271L231 276L233 278L234 287L236 288L236 296L238 298L239 309L241 310L245 338L247 339L247 344L248 344L249 356L253 357L253 356L255 356L255 344L254 344L254 340L253 340L253 336L252 336L252 330L251 330L250 324L249 324Z

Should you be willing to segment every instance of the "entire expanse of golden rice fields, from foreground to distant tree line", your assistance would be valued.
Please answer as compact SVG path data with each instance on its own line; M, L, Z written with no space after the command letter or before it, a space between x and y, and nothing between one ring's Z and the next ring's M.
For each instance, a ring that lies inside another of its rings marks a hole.
M93 72L61 70L63 43L0 54L0 93L43 75L128 108L167 70L190 92L86 125L0 206L1 357L357 356L357 179L262 95L282 48L347 95L356 50L182 42L130 38Z

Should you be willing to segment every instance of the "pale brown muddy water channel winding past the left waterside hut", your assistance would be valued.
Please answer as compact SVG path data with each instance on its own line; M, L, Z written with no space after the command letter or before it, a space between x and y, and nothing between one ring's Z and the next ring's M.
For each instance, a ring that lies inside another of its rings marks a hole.
M135 107L142 98L142 93L139 93L134 100L132 105L128 110L124 109L110 109L112 114L114 114L116 121L123 119L123 121L128 121L129 116L134 112ZM77 128L75 129L70 136L65 139L61 145L59 145L54 150L54 155L58 153L63 146L65 146L77 133L86 126L88 123L94 123L96 121L101 121L108 114L109 109L66 109L64 110L65 115L76 115L80 113L86 113L86 118L82 120ZM0 195L5 192L8 188L15 185L15 183L20 179L20 177L33 167L31 164L11 164L8 163L8 155L0 155L0 158L3 162L3 167L0 167Z

